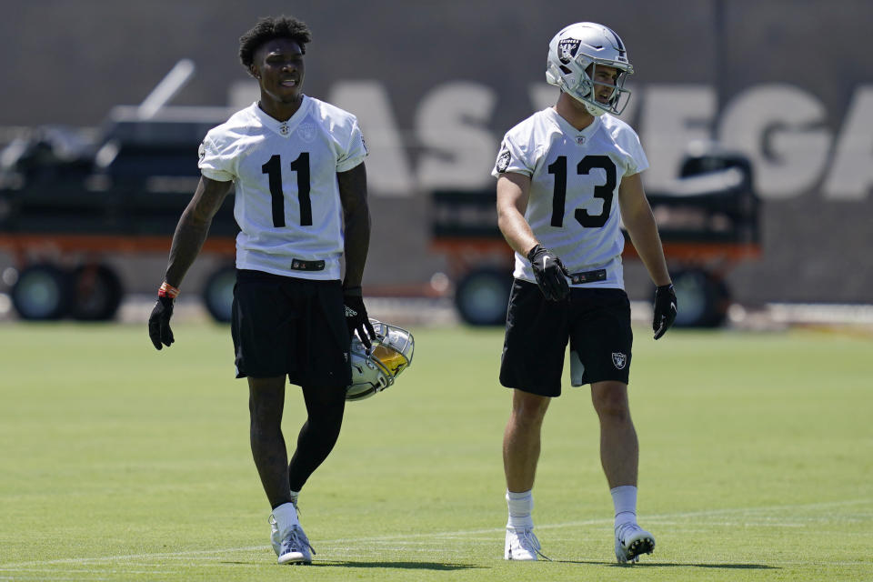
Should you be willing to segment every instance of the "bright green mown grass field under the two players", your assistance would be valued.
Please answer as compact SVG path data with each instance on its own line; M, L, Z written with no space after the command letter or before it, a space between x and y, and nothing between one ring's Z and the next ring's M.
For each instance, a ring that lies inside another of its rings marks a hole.
M349 405L279 567L229 330L0 326L0 580L873 580L873 339L637 329L640 523L618 567L586 390L547 416L537 535L502 559L502 334L413 329L413 366ZM286 438L302 423L289 390Z

